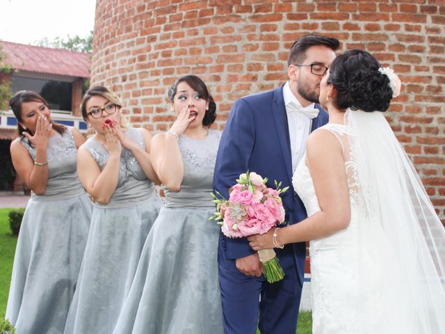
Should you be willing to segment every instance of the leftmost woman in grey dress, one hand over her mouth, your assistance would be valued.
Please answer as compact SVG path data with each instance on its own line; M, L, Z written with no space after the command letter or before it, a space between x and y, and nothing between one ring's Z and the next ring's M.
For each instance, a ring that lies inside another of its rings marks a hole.
M88 237L91 203L76 172L77 129L51 120L47 102L21 90L10 100L19 137L13 165L31 189L15 250L6 318L17 333L62 333Z

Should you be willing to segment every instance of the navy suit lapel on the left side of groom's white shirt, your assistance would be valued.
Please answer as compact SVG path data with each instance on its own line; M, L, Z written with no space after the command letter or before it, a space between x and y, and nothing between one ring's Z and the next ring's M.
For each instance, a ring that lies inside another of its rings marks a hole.
M283 85L284 86L284 85ZM291 144L289 138L289 125L287 122L286 107L284 106L283 86L273 91L272 111L275 127L284 164L286 166L289 182L292 180Z

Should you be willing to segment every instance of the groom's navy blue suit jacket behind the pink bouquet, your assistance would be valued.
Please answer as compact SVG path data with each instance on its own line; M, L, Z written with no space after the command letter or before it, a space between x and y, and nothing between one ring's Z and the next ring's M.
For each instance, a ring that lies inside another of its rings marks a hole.
M268 177L267 186L272 188L275 188L274 180L282 182L282 188L289 186L289 190L282 194L286 221L293 224L305 219L307 214L292 186L291 146L283 86L236 100L221 137L213 188L229 198L228 189L246 170ZM320 113L312 120L311 131L327 123L326 111L318 104L316 108ZM220 247L227 260L255 253L246 238L230 239L223 234ZM301 259L305 257L305 243L293 244L293 253L300 257L297 262L304 266ZM302 270L304 268L298 270L300 280Z

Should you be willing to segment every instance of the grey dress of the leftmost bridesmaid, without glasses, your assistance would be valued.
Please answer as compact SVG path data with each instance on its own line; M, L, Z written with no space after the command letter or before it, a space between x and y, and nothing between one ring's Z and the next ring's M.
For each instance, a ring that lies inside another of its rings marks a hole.
M22 145L35 160L35 148ZM31 193L15 250L6 318L17 334L63 333L91 218L70 128L49 138L44 195Z

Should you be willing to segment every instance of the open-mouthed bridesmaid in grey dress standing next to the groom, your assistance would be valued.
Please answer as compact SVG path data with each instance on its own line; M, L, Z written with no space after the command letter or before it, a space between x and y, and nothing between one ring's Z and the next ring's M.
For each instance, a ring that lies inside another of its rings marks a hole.
M165 189L115 334L223 333L218 285L219 227L209 221L220 132L209 129L216 104L194 75L168 92L177 120L152 140L152 161Z

